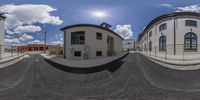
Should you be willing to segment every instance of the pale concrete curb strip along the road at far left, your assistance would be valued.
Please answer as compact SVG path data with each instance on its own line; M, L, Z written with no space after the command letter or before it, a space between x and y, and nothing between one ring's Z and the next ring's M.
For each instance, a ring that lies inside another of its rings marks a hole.
M21 56L14 57L14 58L6 60L6 61L2 61L2 62L0 62L0 69L6 68L15 63L18 63L19 61L23 60L24 58L25 58L25 55L21 55Z

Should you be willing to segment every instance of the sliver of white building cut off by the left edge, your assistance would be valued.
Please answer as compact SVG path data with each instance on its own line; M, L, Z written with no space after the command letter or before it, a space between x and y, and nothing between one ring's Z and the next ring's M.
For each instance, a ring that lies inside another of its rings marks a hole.
M3 14L0 14L0 45L4 45L5 19L6 17Z

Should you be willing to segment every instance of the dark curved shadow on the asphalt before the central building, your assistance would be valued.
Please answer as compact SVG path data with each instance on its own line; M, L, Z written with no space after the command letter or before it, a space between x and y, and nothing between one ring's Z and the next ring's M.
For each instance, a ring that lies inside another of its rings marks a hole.
M45 61L47 63L49 63L50 65L54 66L55 68L60 69L60 70L65 71L65 72L69 72L69 73L90 74L90 73L100 72L100 71L103 71L103 70L108 70L109 72L113 73L117 69L119 69L120 66L124 63L121 60L123 58L125 58L127 55L128 54L124 55L123 57L121 57L121 58L119 58L119 59L117 59L113 62L104 64L104 65L101 65L101 66L94 66L92 68L74 68L74 67L71 67L71 66L64 66L64 65L55 63L55 62L53 62L49 59L45 59Z

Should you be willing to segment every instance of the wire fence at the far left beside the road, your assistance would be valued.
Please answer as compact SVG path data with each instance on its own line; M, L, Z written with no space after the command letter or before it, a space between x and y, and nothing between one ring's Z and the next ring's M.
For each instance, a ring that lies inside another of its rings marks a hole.
M0 60L20 55L21 53L17 49L17 46L0 45Z

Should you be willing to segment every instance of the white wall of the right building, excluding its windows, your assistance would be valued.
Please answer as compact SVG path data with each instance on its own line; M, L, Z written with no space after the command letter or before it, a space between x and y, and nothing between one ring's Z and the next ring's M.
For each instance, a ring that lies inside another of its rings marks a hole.
M197 27L188 27L185 26L185 20L195 20L197 21ZM143 35L141 40L139 41L140 47L146 44L147 45L147 54L148 51L148 43L151 40L152 41L152 52L155 53L155 47L156 52L159 52L159 39L162 35L165 35L167 38L167 53L168 54L174 54L174 21L175 21L175 31L176 31L176 54L182 54L184 51L184 36L186 33L192 32L195 33L198 36L198 44L200 44L200 17L194 18L191 16L184 16L184 17L177 17L177 18L168 18L163 19L161 21L156 22L154 25L152 25L148 31ZM163 23L167 23L167 30L159 31L159 26ZM149 37L149 32L152 31L152 36ZM145 41L145 37L148 37ZM160 52L162 53L162 52ZM186 52L188 54L192 53L200 53L200 46L198 46L197 52Z

